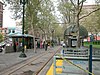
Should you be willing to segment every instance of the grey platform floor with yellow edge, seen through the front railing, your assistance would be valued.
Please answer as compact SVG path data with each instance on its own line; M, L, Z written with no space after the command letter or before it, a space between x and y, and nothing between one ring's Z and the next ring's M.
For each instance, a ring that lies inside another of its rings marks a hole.
M71 62L87 69L87 61L72 60ZM56 66L56 75L86 75L85 72L63 60L57 60ZM54 64L51 65L46 75L54 75Z

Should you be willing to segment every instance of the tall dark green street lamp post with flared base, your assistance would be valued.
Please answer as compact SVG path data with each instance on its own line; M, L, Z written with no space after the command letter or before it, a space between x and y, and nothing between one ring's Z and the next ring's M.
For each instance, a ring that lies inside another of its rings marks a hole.
M28 0L20 0L20 4L23 5L23 26L22 26L22 53L20 54L19 57L27 57L25 52L24 52L24 14L25 14L25 4L28 3Z

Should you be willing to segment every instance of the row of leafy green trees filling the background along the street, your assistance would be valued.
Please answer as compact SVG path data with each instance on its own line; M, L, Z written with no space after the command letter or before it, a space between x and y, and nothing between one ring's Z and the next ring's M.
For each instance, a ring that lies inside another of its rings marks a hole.
M25 8L25 30L33 36L42 37L48 40L63 39L63 33L68 26L77 28L74 33L77 34L77 46L80 46L80 25L86 27L92 34L100 32L100 6L99 1L95 0L95 5L89 11L84 8L86 0L59 0L55 6L52 0L27 0ZM19 19L22 16L22 5L20 0L5 0L5 4L10 4L10 9L14 13L13 18ZM59 23L56 9L60 12ZM73 30L72 30L73 31ZM73 33L73 32L72 32ZM37 35L38 34L38 35ZM35 43L35 39L33 41Z

